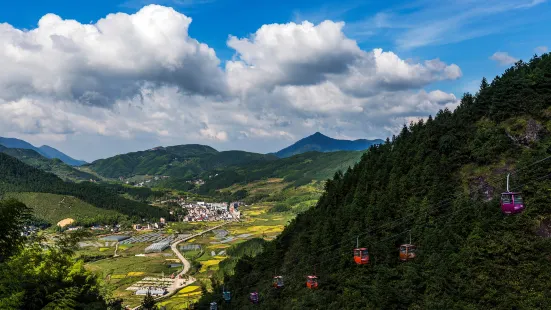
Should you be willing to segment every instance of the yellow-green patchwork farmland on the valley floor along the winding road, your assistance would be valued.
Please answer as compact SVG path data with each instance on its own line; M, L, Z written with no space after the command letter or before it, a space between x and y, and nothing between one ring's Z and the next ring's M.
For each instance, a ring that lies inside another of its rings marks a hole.
M230 222L222 228L215 229L202 236L182 242L178 245L181 253L191 263L189 275L197 281L185 287L178 293L159 302L167 309L185 309L202 295L203 290L211 290L211 278L220 280L221 272L233 268L233 262L225 263L224 270L219 270L221 262L229 258L227 251L238 244L251 239L273 240L281 233L285 225L297 213L311 207L320 195L321 183L300 186L289 186L283 179L262 180L247 185L233 186L224 191L235 192L246 190L250 205L239 207L241 221ZM247 200L247 199L245 199ZM169 223L160 232L129 232L130 239L119 244L117 258L113 258L114 247L105 246L105 242L97 242L96 247L86 247L79 251L81 255L104 257L95 262L88 262L87 268L101 274L108 283L114 296L124 299L124 304L136 306L143 299L133 295L127 288L136 285L147 277L168 276L181 268L177 257L170 249L161 253L150 253L145 256L135 256L145 252L145 248L154 242L165 240L169 235L191 235L204 231L220 222L178 222ZM90 241L94 243L94 240ZM112 244L111 244L112 245Z

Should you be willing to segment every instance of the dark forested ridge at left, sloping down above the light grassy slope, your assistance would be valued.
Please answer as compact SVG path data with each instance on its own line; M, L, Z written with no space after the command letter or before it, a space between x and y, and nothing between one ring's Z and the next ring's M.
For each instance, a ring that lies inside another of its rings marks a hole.
M63 182L57 176L43 172L0 153L0 196L8 192L40 192L70 195L101 209L115 210L138 220L168 216L168 212L145 203L122 198L116 188L89 182ZM98 214L102 218L101 214Z

